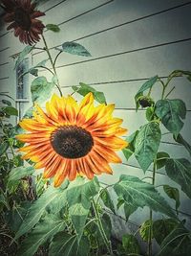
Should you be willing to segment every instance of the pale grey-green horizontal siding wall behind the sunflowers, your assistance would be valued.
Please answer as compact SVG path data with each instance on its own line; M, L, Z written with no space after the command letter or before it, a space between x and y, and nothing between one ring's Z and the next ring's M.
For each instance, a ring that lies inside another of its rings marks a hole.
M42 18L45 24L58 24L61 29L58 34L45 32L53 57L57 54L54 47L60 47L65 41L78 42L92 54L91 58L69 54L58 58L57 74L64 95L72 93L72 85L80 81L95 86L105 93L108 103L116 104L115 115L123 118L123 127L129 129L129 134L145 123L145 110L136 113L134 103L134 96L141 84L155 75L165 79L175 69L191 70L190 1L48 1L41 5L41 11L46 12L46 16ZM5 28L0 32L0 40L0 88L15 98L15 74L12 71L14 63L10 57L20 52L23 46ZM43 47L42 42L37 46ZM47 56L44 52L35 50L30 58L36 64ZM44 70L39 74L51 78ZM172 82L169 89L173 86L176 86L176 90L170 97L182 99L187 106L187 118L181 133L191 143L190 82L179 78ZM153 95L159 99L160 93L161 86L158 83ZM81 98L76 95L76 99ZM28 106L26 104L25 108ZM165 133L166 130L163 129L162 132ZM178 146L169 134L162 135L160 150L170 152L173 157L188 157L187 151ZM144 177L134 157L127 163L121 152L119 155L123 163L112 166L114 175L100 176L102 182L112 184L121 174ZM152 170L146 175L151 176ZM161 169L157 174L157 185L164 183L178 187ZM162 189L159 190L165 197ZM113 197L116 198L115 195ZM180 198L180 216L188 221L188 227L191 228L190 203L181 192ZM173 202L169 202L174 207ZM118 211L118 215L124 217L122 210ZM155 216L160 217L159 214ZM132 215L130 225L122 225L122 219L116 217L115 230L118 235L126 231L133 232L140 222L148 218L146 208L139 209Z

